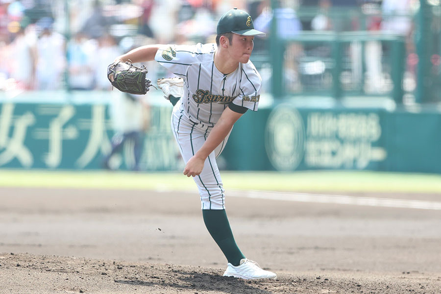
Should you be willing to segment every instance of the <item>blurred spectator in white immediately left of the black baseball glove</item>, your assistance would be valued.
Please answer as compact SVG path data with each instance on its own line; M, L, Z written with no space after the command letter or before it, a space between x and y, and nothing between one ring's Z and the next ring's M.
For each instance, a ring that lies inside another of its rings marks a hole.
M121 49L118 47L115 38L105 34L98 39L98 50L95 58L95 81L99 90L110 90L112 85L107 79L107 66L113 62L115 56L121 55Z

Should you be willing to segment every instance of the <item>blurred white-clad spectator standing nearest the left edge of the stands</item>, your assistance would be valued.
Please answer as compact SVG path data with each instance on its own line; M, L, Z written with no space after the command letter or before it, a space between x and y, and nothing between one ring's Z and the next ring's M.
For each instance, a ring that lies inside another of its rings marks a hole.
M21 27L11 43L11 78L20 89L31 90L35 86L35 65L37 60L37 36L32 26Z

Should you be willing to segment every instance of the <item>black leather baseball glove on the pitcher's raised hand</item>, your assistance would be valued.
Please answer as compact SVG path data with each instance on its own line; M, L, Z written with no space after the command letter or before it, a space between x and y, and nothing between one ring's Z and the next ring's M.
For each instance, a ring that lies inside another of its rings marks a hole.
M151 86L146 78L146 67L136 67L130 62L114 62L107 67L107 78L121 92L144 95ZM113 77L113 80L112 80Z

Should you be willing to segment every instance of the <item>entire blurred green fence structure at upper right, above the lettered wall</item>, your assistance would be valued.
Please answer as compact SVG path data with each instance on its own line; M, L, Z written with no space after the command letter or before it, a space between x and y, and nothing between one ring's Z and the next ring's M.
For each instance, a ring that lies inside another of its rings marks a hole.
M288 37L276 33L274 18L268 48L276 97L441 102L441 2L420 0L409 11L395 14L384 14L379 1L364 2L367 5L344 8L299 6L293 18L303 30ZM278 1L271 3L273 9L279 7ZM332 27L313 31L311 24L318 15L328 18ZM409 22L407 35L380 29L381 22L396 19ZM374 22L378 27L372 29Z

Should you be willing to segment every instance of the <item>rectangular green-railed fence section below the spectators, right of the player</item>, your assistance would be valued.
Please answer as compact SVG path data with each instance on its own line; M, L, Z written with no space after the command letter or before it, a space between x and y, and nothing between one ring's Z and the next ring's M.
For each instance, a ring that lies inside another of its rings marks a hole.
M383 96L402 102L405 47L401 36L299 32L271 45L274 96ZM365 58L368 49L376 54ZM283 57L290 55L294 56L287 62ZM365 59L374 63L371 72L375 74L369 73ZM294 73L294 78L287 78Z

